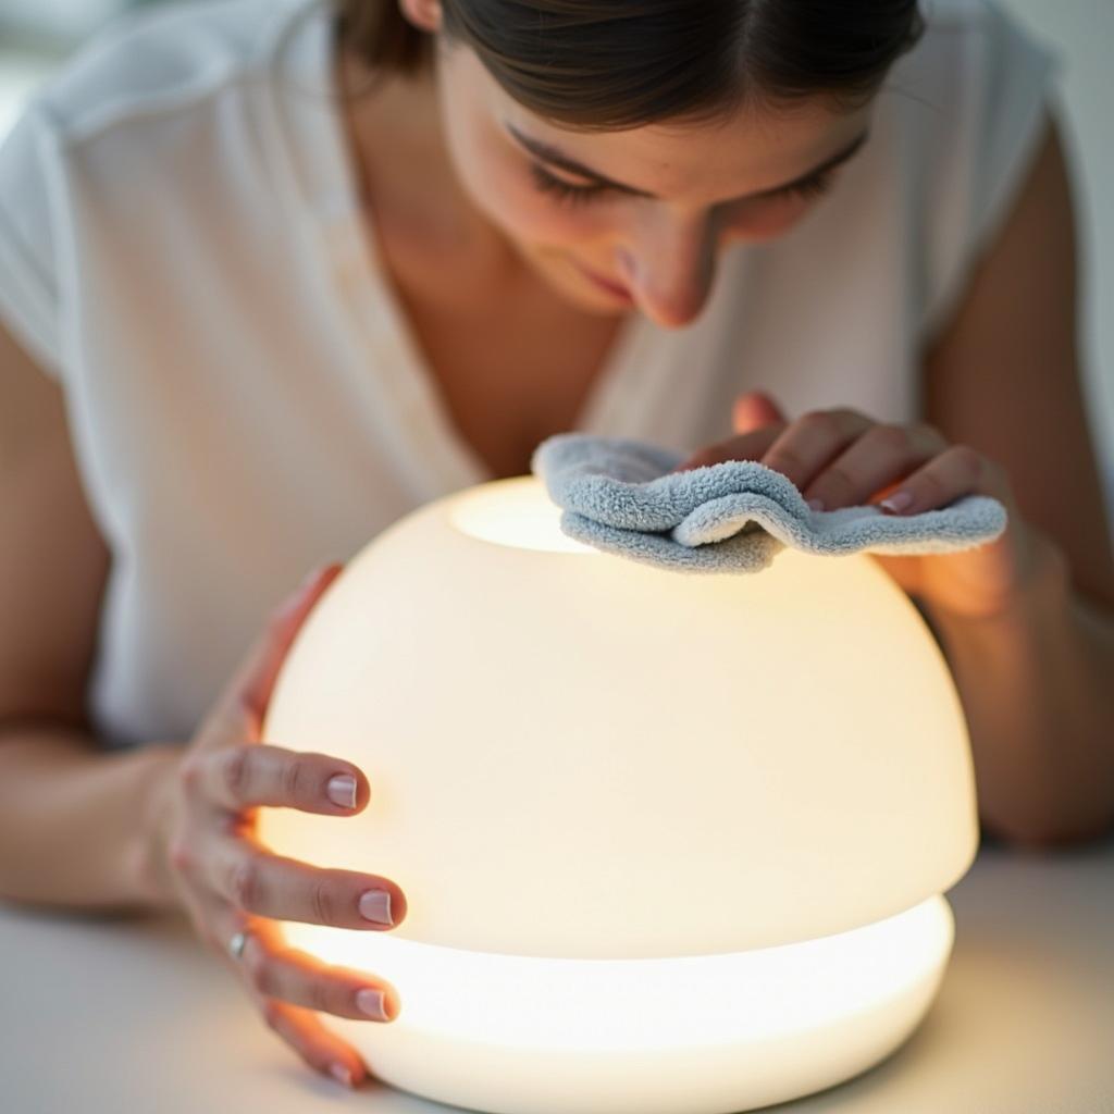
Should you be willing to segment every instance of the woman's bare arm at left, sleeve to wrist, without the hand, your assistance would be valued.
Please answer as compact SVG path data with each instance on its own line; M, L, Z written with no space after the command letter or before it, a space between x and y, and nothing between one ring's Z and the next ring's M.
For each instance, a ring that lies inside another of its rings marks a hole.
M85 688L109 567L61 389L0 330L0 896L168 900L139 870L143 802L168 751L108 756Z

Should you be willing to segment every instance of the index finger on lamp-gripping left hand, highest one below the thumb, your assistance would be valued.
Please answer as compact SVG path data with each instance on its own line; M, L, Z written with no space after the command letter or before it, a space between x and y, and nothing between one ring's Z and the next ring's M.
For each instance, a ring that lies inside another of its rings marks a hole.
M182 775L196 799L232 812L267 805L353 815L371 798L368 779L351 762L266 743L201 751L185 760Z

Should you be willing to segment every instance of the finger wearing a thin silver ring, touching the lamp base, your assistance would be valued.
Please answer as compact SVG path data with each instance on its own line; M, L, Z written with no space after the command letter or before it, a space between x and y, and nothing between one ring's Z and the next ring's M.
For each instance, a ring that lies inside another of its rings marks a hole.
M398 994L389 983L289 947L278 926L263 918L247 924L246 942L234 962L262 997L354 1020L385 1023L398 1016Z

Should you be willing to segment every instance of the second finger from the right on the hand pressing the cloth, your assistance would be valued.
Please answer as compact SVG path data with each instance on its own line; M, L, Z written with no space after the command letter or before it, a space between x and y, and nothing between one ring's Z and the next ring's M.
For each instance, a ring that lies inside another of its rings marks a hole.
M804 498L824 510L861 506L947 447L931 426L871 426L804 486Z

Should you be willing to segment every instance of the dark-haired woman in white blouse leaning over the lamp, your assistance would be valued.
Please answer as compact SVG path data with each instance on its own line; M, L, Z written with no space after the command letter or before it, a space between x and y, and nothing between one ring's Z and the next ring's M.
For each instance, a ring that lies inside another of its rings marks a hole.
M948 654L984 823L1103 831L1114 567L1048 56L959 0L335 14L144 17L0 152L0 891L185 909L356 1084L319 1012L398 996L275 921L382 930L405 898L254 844L258 805L372 793L260 717L333 558L571 428L828 508L1006 502L994 545L878 559Z

